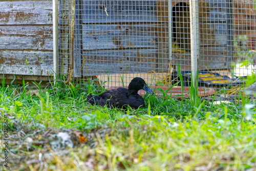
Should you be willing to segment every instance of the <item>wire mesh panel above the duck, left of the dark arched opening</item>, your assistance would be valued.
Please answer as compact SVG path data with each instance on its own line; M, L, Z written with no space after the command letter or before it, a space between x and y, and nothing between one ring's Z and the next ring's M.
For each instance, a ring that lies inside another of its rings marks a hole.
M127 85L136 76L151 81L168 72L167 2L81 1L78 76L104 86Z

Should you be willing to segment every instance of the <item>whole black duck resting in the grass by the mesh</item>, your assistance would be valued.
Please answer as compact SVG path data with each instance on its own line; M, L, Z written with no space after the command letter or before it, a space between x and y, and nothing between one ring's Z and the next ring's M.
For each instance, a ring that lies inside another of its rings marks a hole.
M87 101L92 105L107 105L108 108L131 108L138 109L145 106L143 98L138 94L139 90L145 90L148 93L154 94L147 86L142 78L136 77L129 84L128 89L118 88L106 91L100 95L87 96Z

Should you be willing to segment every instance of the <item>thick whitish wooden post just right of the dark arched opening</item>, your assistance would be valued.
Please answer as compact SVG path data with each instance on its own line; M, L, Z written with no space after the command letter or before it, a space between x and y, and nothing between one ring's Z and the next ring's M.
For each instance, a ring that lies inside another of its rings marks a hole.
M189 0L190 14L190 44L191 44L191 73L193 75L193 85L197 83L197 59L199 58L199 9L198 0ZM196 94L196 96L198 96ZM196 99L194 99L195 101Z

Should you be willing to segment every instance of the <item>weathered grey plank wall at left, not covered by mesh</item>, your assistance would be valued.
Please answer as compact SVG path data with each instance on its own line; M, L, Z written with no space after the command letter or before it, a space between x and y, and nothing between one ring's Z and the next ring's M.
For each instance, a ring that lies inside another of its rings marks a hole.
M0 74L47 76L51 68L52 0L1 1Z

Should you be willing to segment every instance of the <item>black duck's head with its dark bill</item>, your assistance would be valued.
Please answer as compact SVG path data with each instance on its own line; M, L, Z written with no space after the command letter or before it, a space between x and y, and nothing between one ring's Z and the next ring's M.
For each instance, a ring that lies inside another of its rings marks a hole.
M136 91L138 93L139 90L145 90L147 93L154 94L150 88L147 87L146 82L144 79L135 77L129 84L128 90Z

